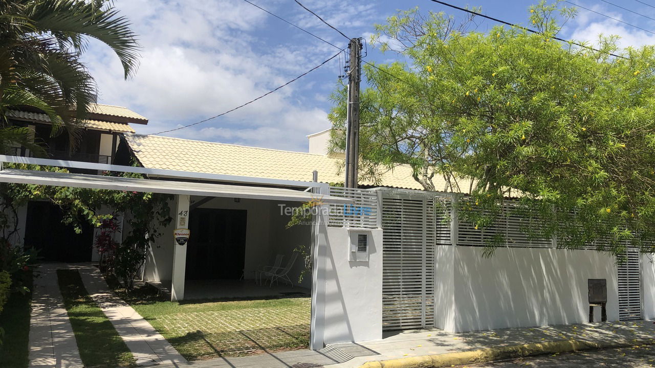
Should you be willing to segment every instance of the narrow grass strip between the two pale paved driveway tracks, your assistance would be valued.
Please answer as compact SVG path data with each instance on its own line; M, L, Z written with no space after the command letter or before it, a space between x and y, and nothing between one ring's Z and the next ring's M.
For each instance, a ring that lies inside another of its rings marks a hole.
M77 270L57 270L64 305L86 367L130 367L134 356L100 307L88 295Z

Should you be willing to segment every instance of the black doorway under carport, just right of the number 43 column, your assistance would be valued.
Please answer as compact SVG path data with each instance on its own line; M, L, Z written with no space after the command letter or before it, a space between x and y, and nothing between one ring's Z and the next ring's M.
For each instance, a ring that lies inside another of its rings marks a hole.
M246 257L247 210L195 208L189 214L186 280L238 280Z

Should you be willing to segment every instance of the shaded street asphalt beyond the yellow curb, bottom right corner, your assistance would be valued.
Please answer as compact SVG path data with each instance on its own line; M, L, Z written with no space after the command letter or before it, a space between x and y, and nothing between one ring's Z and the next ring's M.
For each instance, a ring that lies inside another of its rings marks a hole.
M470 368L578 368L578 367L629 367L645 368L655 366L655 346L642 345L631 348L586 350L567 354L552 354L529 358L511 359L476 365Z

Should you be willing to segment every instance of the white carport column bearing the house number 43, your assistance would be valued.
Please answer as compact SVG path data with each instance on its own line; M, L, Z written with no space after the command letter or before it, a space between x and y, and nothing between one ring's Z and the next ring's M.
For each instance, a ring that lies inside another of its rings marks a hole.
M176 197L175 229L189 229L189 195L179 194ZM184 299L184 279L187 267L187 245L180 246L170 234L173 242L173 276L170 290L171 301Z

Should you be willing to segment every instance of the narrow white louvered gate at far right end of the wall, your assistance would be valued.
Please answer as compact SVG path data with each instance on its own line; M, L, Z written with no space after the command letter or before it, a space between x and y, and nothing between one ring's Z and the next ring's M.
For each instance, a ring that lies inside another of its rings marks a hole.
M627 249L627 259L618 265L619 320L641 320L639 249Z

